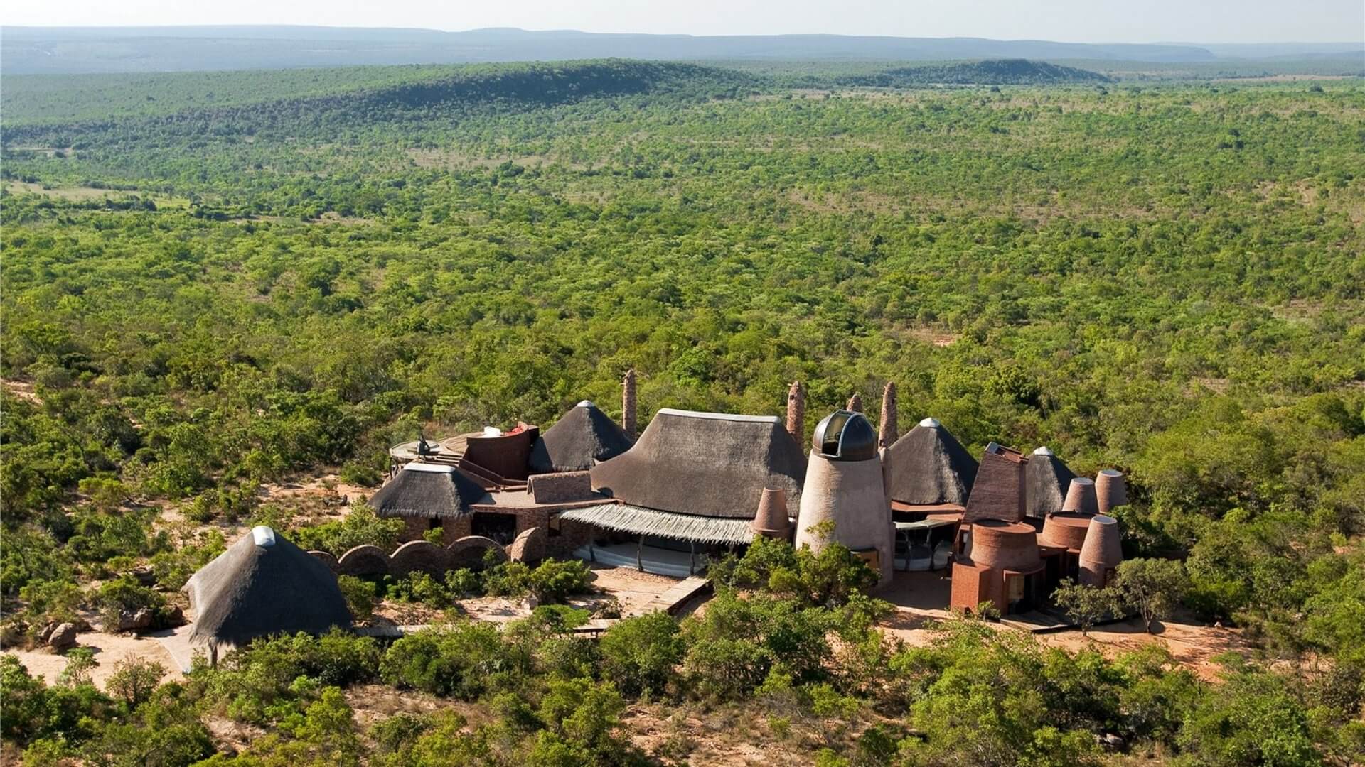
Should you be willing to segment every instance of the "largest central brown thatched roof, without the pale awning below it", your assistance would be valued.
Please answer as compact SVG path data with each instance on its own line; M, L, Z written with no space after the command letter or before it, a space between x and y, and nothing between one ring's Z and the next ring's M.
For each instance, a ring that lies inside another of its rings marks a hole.
M661 409L625 453L592 468L592 489L632 506L752 520L764 489L796 517L805 456L773 416Z

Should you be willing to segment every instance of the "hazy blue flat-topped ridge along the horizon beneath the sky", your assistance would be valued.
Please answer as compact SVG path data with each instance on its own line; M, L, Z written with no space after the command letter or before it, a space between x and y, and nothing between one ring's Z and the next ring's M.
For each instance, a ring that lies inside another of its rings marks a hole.
M450 64L569 59L898 60L1096 59L1211 61L1197 45L1123 45L837 34L597 34L480 29L4 27L0 68L11 74L277 70L366 64Z

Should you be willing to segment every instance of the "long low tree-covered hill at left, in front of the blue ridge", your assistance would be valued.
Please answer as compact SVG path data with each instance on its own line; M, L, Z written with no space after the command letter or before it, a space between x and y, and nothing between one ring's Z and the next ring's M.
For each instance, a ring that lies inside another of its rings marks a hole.
M378 123L460 119L595 97L733 97L762 78L676 61L621 59L352 67L270 72L16 75L3 93L5 146L66 146L96 130L141 135L339 132ZM150 94L156 94L149 100ZM113 130L117 128L117 130Z

